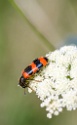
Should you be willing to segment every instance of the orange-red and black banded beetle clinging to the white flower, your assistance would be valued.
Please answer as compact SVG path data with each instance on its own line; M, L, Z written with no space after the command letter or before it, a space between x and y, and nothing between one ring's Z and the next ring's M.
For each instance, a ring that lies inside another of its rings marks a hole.
M40 69L42 67L46 66L47 64L48 64L48 58L47 57L40 57L40 58L37 58L37 59L33 60L33 62L23 70L22 75L19 79L19 85L22 88L26 88L26 87L31 88L29 86L29 81L33 80L33 79L31 79L31 77L35 73L40 71Z

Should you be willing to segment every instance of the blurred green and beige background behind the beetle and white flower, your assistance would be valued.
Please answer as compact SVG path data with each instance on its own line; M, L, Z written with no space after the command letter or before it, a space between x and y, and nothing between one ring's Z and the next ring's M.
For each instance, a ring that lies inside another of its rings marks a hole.
M77 111L48 119L35 93L17 86L33 59L77 44L76 35L76 0L0 0L0 125L77 125Z

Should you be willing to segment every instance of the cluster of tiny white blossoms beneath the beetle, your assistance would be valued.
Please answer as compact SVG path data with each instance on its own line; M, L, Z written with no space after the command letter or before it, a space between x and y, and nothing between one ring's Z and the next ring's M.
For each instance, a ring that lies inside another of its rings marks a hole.
M41 107L46 107L47 117L52 118L63 108L77 108L77 47L65 46L46 57L48 65L35 75L29 86L42 101Z

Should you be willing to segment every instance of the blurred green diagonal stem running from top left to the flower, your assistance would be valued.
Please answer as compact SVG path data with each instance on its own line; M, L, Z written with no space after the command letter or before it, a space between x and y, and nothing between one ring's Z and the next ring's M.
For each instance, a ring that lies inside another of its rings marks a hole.
M30 25L32 30L43 40L43 43L47 46L47 48L52 51L55 47L49 42L49 40L29 21L29 19L24 15L22 10L17 6L17 4L13 0L9 0L10 3L17 9L17 11L24 17L26 22Z

